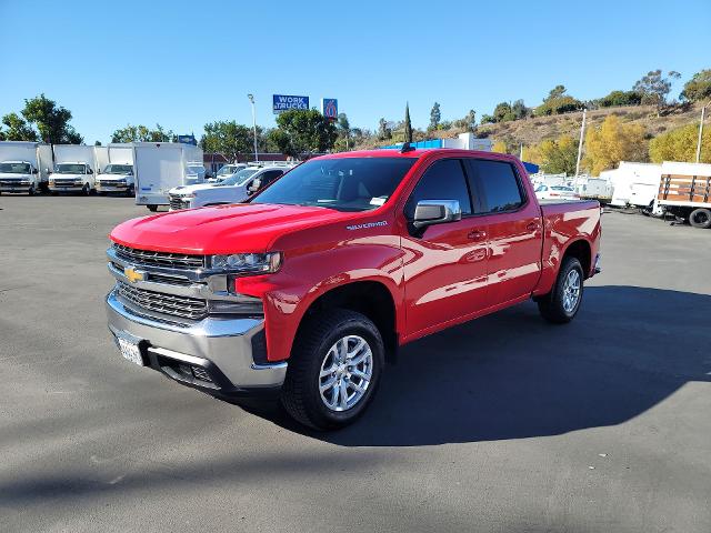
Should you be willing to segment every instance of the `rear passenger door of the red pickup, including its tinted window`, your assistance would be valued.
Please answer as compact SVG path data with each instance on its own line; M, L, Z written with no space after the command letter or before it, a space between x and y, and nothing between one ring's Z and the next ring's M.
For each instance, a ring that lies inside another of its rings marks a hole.
M467 163L488 227L491 305L530 294L541 270L540 208L509 161L472 158Z

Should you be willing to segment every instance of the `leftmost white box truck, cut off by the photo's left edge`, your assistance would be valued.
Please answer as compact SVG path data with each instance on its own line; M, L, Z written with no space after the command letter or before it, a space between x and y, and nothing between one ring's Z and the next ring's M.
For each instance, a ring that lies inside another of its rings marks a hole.
M34 194L47 189L48 177L53 167L50 144L0 141L0 193Z

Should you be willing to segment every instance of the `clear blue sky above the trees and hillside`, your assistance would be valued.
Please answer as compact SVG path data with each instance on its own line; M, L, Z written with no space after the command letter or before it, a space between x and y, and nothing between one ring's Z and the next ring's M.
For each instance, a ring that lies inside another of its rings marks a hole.
M273 125L272 93L339 99L351 124L424 127L497 102L580 99L647 71L682 81L711 68L711 1L0 0L0 114L41 92L86 141L127 123L202 133L206 122ZM674 88L678 95L681 83Z

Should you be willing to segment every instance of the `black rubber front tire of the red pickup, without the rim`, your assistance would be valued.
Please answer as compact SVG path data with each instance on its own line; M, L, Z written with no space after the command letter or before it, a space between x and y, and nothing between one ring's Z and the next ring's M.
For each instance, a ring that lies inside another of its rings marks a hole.
M343 428L363 413L378 390L384 365L382 338L375 324L354 311L330 310L307 320L289 360L281 403L303 425L317 430ZM358 335L368 343L372 353L372 376L362 398L353 406L332 411L321 399L319 374L329 350L347 335Z

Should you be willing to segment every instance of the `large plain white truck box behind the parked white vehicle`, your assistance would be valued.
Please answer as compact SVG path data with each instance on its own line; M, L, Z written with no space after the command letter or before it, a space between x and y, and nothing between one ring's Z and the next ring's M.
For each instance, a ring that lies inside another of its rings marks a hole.
M174 187L193 184L188 179L188 163L202 161L202 150L180 142L133 143L136 204L157 211L169 205L168 191Z

